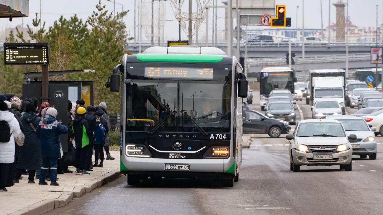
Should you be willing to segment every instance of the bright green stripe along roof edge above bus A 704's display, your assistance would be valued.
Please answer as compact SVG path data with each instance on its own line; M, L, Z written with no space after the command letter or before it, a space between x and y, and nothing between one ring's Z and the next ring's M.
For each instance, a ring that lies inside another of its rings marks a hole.
M144 62L218 63L223 59L223 55L206 54L136 54L136 57Z

